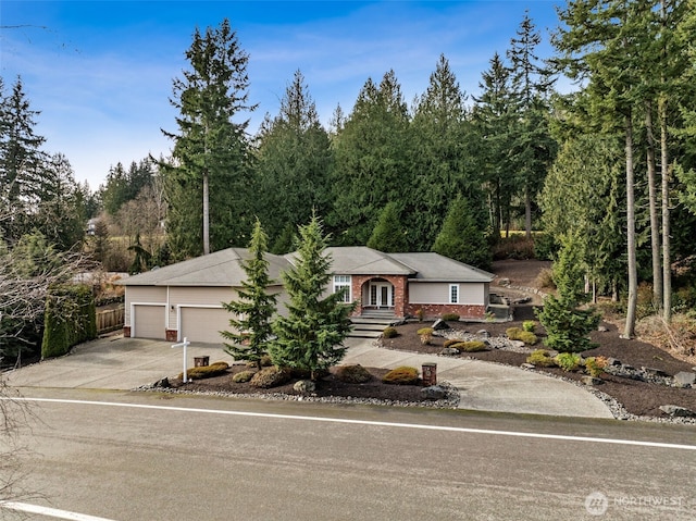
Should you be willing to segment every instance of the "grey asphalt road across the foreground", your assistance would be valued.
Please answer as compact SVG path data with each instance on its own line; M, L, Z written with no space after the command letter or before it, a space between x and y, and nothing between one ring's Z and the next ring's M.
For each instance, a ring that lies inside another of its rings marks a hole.
M74 389L28 397L39 401L22 458L39 496L26 501L115 521L696 519L693 426Z

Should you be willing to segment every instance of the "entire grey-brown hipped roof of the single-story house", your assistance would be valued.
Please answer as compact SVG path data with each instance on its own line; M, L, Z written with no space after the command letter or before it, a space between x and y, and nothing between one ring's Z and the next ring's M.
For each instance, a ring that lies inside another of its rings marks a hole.
M364 246L326 248L332 273L338 275L402 275L413 282L490 282L492 273L433 252L384 253ZM227 248L124 278L125 286L238 287L248 278L243 262L246 248ZM269 276L281 284L281 273L293 264L296 253L265 255Z

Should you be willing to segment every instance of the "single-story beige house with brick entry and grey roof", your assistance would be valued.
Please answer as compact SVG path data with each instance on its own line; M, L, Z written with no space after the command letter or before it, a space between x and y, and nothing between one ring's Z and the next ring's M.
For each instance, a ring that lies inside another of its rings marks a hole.
M333 259L326 291L345 291L347 302L357 301L356 317L457 313L481 320L488 310L495 275L438 253L384 253L362 246L332 247L326 253ZM243 262L248 258L246 249L228 248L124 278L124 335L222 342L219 332L229 327L222 302L236 298L247 278ZM278 295L283 313L287 294L281 273L293 265L295 255L269 253L266 259L275 281L269 291Z

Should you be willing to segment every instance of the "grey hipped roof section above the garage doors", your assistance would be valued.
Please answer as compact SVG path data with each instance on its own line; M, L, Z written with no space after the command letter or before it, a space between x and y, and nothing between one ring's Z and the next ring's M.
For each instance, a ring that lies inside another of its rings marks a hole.
M125 286L236 287L248 278L241 263L251 256L246 248L227 248L121 281ZM283 257L266 253L269 276L279 284L281 272L289 268Z

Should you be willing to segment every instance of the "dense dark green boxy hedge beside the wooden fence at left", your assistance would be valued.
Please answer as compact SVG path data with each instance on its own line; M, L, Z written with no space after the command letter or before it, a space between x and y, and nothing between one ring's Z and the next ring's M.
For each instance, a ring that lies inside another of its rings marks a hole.
M46 298L41 358L60 357L97 338L97 308L88 286L55 286Z

